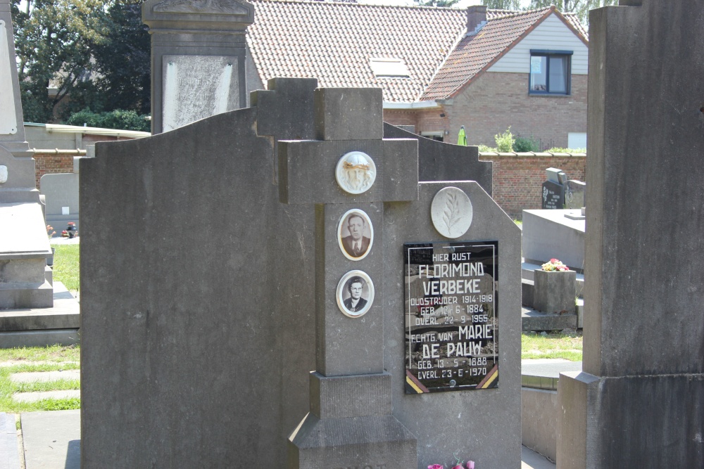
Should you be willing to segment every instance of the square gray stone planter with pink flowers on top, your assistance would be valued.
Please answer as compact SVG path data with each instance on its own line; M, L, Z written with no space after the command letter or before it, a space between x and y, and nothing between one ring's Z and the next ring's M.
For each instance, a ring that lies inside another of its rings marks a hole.
M577 290L574 287L577 272L551 269L551 267L548 267L551 270L546 270L544 266L553 265L553 261L562 266L557 259L551 259L551 262L543 264L543 269L535 270L533 307L537 311L548 313L574 313L577 309L574 302L577 296Z

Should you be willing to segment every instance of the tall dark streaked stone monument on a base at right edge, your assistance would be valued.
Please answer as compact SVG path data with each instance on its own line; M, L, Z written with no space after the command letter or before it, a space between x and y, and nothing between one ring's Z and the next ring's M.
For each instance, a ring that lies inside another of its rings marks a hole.
M621 0L589 38L584 372L560 376L558 468L702 468L704 4Z

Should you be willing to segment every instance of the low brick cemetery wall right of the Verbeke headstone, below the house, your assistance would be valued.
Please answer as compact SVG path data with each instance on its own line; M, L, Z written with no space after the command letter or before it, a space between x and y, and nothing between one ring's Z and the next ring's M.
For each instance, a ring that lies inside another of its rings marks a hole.
M518 219L522 216L522 210L542 207L541 187L546 180L547 168L562 169L567 178L586 182L584 155L481 153L479 160L494 162L494 200L504 212Z

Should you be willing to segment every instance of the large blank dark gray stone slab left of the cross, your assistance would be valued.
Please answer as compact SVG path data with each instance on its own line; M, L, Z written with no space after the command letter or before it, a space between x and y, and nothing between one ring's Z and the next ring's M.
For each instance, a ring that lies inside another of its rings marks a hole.
M83 467L286 461L315 369L315 214L279 203L258 113L80 162Z

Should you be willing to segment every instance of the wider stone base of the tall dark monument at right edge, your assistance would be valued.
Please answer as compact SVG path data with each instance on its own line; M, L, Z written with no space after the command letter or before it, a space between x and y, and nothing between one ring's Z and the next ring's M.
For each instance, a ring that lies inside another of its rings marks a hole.
M558 399L563 409L560 468L704 467L702 373L599 377L565 372ZM663 441L667 444L653 448L653 442Z

